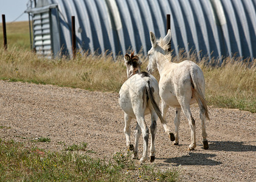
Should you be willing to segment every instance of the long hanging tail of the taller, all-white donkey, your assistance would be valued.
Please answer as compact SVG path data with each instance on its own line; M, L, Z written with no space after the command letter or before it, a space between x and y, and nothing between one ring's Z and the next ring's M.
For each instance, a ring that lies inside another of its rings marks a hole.
M204 94L202 92L202 89L201 87L199 86L198 84L198 80L195 78L195 76L193 74L190 73L190 76L191 76L191 79L192 79L192 83L193 83L193 87L194 87L194 91L195 91L195 96L196 98L199 98L199 101L201 101L202 103L202 107L203 109L205 110L206 112L206 118L208 120L210 120L210 117L209 117L209 113L208 113L208 108L207 108L207 101L206 99L204 98ZM199 103L198 103L199 104Z

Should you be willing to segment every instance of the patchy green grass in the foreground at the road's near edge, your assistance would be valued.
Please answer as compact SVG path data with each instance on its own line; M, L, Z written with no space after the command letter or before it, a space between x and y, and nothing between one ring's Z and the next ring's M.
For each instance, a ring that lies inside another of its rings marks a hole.
M47 152L0 138L0 181L178 181L178 170L136 165L131 153L99 160L78 152Z

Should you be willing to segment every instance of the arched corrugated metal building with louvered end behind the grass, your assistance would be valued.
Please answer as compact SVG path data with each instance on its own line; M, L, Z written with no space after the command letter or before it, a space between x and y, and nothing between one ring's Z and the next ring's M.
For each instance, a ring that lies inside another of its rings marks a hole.
M165 36L171 15L174 53L195 50L198 57L237 54L256 57L256 0L37 0L32 15L38 53L72 55L71 16L77 47L114 55L127 49L147 54L149 32Z

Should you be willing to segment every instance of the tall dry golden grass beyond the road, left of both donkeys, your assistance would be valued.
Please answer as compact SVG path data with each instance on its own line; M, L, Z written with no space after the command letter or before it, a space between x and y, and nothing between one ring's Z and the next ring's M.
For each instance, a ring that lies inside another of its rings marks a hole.
M42 59L23 49L1 50L2 79L117 92L126 79L123 62L83 53L74 60ZM119 58L118 58L119 59Z

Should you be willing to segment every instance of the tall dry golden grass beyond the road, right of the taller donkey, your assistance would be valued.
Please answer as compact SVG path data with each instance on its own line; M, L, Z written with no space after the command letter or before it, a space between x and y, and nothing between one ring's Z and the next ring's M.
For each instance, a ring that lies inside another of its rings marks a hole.
M256 59L237 57L212 59L204 57L198 62L195 53L190 57L181 50L175 62L190 59L201 67L206 79L206 99L216 107L249 110L256 112Z

